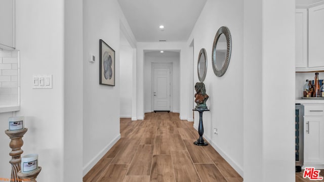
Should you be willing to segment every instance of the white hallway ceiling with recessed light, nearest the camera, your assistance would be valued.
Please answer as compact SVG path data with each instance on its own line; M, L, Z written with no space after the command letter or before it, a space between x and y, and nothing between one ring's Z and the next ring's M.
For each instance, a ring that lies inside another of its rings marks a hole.
M186 41L207 0L118 0L139 42ZM164 25L163 31L159 25Z

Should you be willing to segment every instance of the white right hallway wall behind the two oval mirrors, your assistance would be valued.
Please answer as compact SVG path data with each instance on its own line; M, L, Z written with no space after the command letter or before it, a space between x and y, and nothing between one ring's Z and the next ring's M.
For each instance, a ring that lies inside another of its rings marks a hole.
M205 78L209 112L204 112L204 136L212 146L238 171L243 173L243 3L242 1L207 1L187 42L194 39L194 82L198 82L197 60L201 48L207 52ZM227 26L232 36L229 67L222 77L214 74L212 46L217 30ZM191 88L192 89L192 88ZM193 96L192 96L193 100ZM192 101L191 101L192 102ZM194 126L199 122L194 113ZM218 135L213 128L218 128Z

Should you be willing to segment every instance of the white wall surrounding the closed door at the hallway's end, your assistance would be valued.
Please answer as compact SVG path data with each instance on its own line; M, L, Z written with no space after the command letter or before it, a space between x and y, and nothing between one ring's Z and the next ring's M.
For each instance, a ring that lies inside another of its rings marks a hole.
M152 112L152 63L172 63L172 101L171 111L180 112L180 53L165 51L147 52L144 58L144 112Z

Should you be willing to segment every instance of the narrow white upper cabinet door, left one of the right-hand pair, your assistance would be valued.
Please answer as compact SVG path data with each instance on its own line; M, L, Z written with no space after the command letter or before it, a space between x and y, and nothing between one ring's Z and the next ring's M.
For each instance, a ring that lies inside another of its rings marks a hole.
M296 68L307 67L307 9L296 9Z

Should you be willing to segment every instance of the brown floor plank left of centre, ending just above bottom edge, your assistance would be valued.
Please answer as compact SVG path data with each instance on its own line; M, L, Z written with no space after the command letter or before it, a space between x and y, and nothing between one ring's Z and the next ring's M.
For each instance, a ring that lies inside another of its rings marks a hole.
M153 145L139 145L127 175L150 175Z

